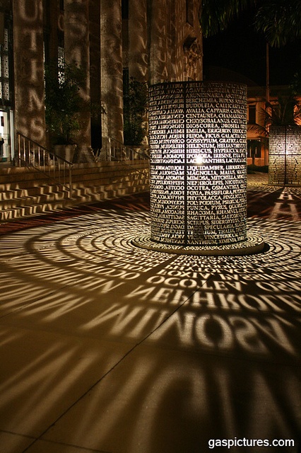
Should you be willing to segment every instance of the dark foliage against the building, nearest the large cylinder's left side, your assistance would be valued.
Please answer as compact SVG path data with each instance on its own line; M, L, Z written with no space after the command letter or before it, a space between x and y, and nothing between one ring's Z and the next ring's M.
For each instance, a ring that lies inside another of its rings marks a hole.
M148 86L131 77L124 95L124 144L139 146L146 135L143 116L146 114Z

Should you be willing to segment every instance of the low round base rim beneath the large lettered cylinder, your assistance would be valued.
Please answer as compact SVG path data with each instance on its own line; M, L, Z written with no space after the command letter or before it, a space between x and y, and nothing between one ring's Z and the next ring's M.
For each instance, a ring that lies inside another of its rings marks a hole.
M264 250L264 240L260 236L247 234L245 241L227 244L223 246L176 246L166 243L158 243L151 240L151 236L139 236L131 240L131 243L148 250L175 253L177 255L201 255L201 256L242 256L254 255Z

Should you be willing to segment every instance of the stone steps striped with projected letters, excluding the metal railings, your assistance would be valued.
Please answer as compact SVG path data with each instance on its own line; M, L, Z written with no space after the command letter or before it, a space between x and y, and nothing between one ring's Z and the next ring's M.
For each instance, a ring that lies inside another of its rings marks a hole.
M73 164L72 190L29 167L0 166L0 222L149 190L148 161Z

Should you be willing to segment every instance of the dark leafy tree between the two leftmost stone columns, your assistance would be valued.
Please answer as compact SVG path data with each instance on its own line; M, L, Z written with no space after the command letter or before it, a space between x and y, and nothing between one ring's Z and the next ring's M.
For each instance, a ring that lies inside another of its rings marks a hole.
M64 75L59 79L57 65L45 69L45 117L47 130L57 144L73 143L74 134L81 129L81 111L85 102L80 89L85 74L76 64L65 64Z

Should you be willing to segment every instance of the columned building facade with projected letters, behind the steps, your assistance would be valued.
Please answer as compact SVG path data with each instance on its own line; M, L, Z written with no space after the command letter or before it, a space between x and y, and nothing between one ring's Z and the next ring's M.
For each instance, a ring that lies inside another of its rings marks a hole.
M1 0L0 134L4 157L16 132L51 147L45 121L45 66L75 62L80 95L78 149L124 140L124 93L131 78L156 84L202 79L200 0ZM84 159L84 152L78 154Z

